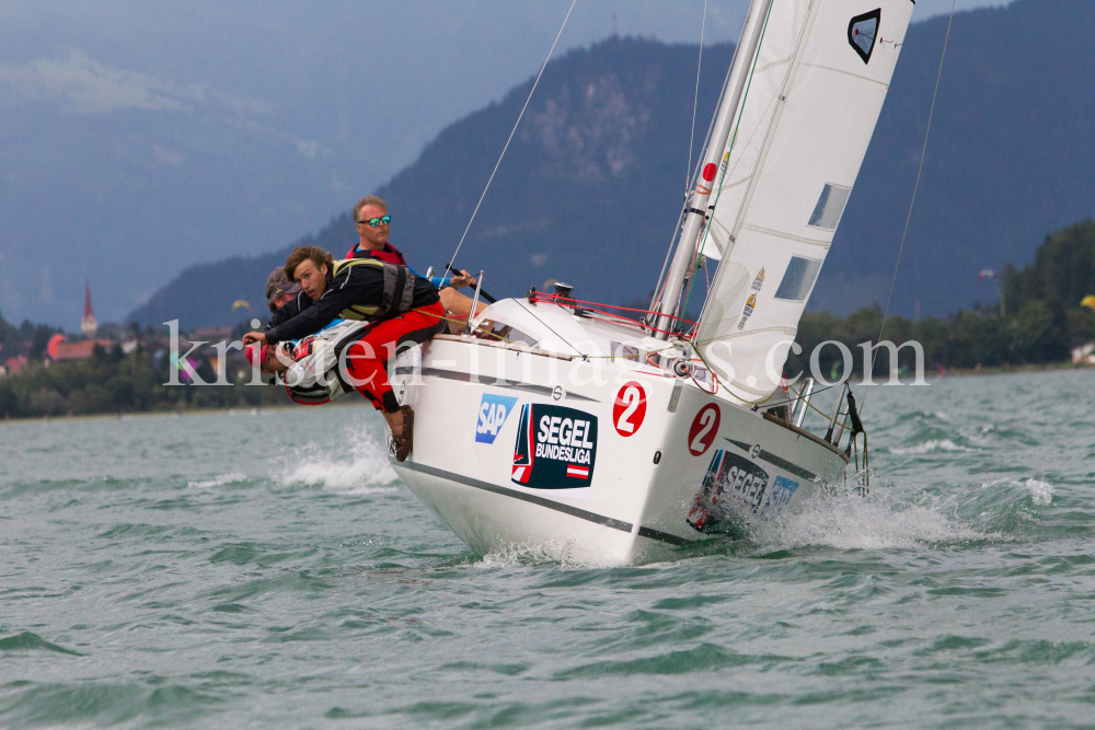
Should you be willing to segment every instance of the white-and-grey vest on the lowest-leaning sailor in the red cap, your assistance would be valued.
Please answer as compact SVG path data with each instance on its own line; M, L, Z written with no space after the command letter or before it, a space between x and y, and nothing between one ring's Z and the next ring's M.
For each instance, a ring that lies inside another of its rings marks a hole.
M293 364L277 376L289 397L306 406L319 406L354 390L339 371L346 348L369 332L367 322L349 320L300 340L293 348Z

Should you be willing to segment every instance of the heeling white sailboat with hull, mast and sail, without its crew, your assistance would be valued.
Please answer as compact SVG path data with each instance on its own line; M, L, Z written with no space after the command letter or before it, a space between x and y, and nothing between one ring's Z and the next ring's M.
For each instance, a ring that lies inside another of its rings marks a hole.
M913 7L752 0L644 321L558 285L399 356L417 417L392 466L473 551L660 560L844 484L846 401L805 430L808 382L782 371ZM689 328L701 256L717 270Z

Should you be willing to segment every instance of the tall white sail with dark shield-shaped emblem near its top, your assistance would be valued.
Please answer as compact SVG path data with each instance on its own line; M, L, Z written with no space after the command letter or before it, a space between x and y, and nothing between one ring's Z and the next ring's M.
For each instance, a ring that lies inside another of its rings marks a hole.
M912 0L772 3L700 244L722 263L696 346L744 401L779 385L912 10Z

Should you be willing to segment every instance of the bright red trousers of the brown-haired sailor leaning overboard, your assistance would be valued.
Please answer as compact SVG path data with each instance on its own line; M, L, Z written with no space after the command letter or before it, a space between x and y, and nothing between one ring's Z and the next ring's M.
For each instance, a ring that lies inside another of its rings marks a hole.
M399 401L388 381L388 362L407 344L425 343L445 329L445 308L440 302L384 320L347 348L347 380L377 410L399 410Z

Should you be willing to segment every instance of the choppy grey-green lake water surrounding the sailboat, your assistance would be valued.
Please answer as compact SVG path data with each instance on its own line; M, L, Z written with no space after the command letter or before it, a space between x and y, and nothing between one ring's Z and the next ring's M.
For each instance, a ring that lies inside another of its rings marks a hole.
M481 558L362 407L0 424L0 727L1095 727L1095 372L875 387L872 496Z

